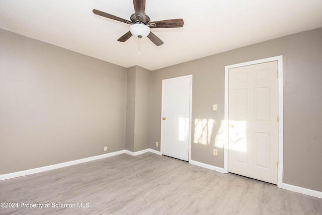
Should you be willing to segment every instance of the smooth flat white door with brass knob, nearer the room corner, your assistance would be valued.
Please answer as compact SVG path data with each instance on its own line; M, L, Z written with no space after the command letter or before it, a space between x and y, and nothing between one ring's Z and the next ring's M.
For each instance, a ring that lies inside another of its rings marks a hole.
M162 81L161 152L189 160L191 77Z

